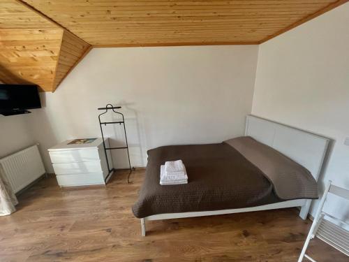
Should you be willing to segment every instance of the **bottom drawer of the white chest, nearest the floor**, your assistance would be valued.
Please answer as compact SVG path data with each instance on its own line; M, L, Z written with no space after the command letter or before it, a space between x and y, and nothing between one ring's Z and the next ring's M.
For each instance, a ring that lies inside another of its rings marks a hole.
M57 175L57 182L61 187L86 186L89 184L105 184L102 173Z

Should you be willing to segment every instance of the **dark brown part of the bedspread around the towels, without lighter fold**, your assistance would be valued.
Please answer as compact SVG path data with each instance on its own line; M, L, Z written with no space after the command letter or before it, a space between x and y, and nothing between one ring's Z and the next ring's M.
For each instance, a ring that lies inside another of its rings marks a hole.
M181 159L188 184L161 186L160 166ZM263 173L227 143L172 145L148 151L135 217L248 208L282 201Z

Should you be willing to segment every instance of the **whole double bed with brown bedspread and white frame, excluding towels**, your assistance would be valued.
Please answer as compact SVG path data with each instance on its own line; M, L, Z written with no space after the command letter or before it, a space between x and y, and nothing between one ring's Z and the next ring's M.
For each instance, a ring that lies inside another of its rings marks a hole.
M142 236L147 220L301 207L318 198L316 181L329 139L248 115L245 136L207 145L148 151L146 175L133 214ZM161 186L160 166L181 159L188 184Z

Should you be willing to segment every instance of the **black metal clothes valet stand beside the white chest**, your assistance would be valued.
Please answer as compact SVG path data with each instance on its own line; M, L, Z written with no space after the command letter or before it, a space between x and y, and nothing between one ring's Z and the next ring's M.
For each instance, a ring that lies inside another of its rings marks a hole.
M114 170L117 170L115 168L110 168L109 166L109 161L107 158L107 150L127 150L127 156L128 156L128 166L130 168L128 168L130 170L130 173L128 173L128 177L127 177L127 182L130 183L130 175L132 173L132 170L134 170L135 168L131 167L131 161L130 161L130 153L128 152L128 143L127 143L127 136L126 136L126 127L125 127L125 119L124 119L124 115L121 112L117 112L115 111L115 109L120 109L121 106L112 106L112 104L108 103L107 105L105 105L105 108L98 108L98 110L105 110L105 112L101 113L100 115L98 115L98 120L99 120L99 126L101 127L101 133L102 133L102 139L103 139L103 147L104 147L104 152L105 152L105 159L107 159L107 168L108 168L108 175L107 177L105 177L105 181L107 181L107 178L112 174L112 172ZM101 122L101 115L104 115L108 110L112 110L113 112L121 115L122 117L122 121L116 121L116 122ZM125 140L126 140L126 147L105 147L105 142L104 142L104 135L103 135L103 128L102 125L107 125L107 124L124 124L124 133L125 133ZM120 170L120 169L119 169ZM127 169L126 169L127 170Z

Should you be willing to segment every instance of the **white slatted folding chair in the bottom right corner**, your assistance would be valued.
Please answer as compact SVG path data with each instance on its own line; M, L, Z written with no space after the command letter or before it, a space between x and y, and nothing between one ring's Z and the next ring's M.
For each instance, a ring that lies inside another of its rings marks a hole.
M337 226L336 224L332 223L332 221L337 221L339 222L339 224L342 224L346 228L349 228L349 224L322 211L328 193L334 194L336 196L341 196L342 198L349 200L349 190L343 189L341 187L336 187L334 184L332 184L331 181L328 182L325 188L325 192L321 198L318 211L315 214L313 224L311 225L309 234L306 237L306 241L299 256L298 262L302 262L304 256L306 257L306 259L309 259L312 262L316 262L306 254L306 248L308 247L310 240L315 237L349 256L349 231L341 226Z

